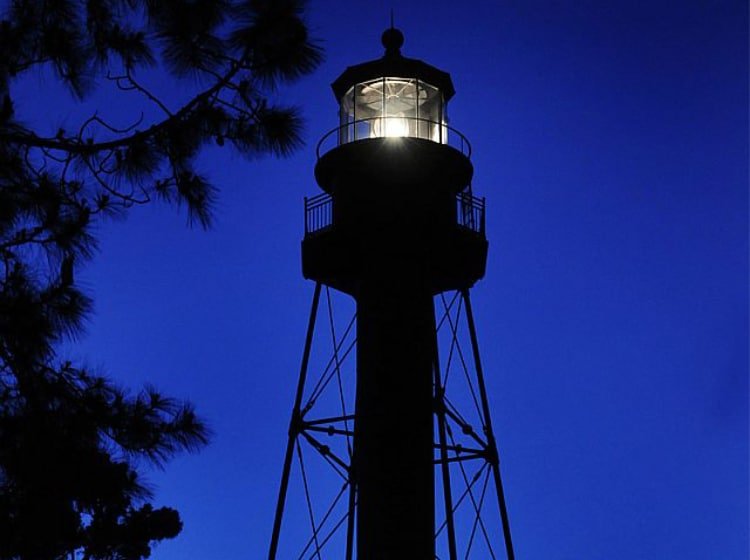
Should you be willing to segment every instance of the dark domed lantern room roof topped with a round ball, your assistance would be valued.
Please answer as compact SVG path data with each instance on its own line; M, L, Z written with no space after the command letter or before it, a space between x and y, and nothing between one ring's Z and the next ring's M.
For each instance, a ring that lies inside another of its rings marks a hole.
M404 35L393 27L386 29L381 38L385 53L382 58L347 67L331 84L337 100L341 100L354 85L383 77L416 78L438 88L448 101L456 93L450 74L416 58L401 54Z

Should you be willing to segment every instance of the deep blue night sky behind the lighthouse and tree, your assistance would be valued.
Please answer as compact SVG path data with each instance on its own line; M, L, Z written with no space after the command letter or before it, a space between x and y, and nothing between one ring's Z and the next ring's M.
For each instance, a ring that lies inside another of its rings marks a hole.
M207 151L213 230L161 205L99 229L81 278L96 313L69 352L193 401L215 434L151 475L185 522L156 560L266 554L313 292L299 243L314 148L337 125L329 84L382 54L390 7L311 2L326 61L278 92L303 108L307 146ZM487 198L472 297L517 557L745 560L747 3L393 7L404 54L452 75L450 123Z

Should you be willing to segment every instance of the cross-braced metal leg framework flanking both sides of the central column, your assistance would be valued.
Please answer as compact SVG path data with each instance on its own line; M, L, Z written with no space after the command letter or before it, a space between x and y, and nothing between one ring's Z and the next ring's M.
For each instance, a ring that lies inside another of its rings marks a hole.
M334 310L334 299L338 304L341 298L332 292L318 283L313 294L269 560L354 558L356 313L349 300L352 311L341 322L341 312ZM504 549L504 557L514 560L468 290L438 295L435 310L434 462L442 494L436 511L436 559L496 559ZM318 315L326 316L326 329L316 329ZM316 347L329 352L313 356ZM290 482L303 498L285 512ZM287 526L283 543L282 520Z

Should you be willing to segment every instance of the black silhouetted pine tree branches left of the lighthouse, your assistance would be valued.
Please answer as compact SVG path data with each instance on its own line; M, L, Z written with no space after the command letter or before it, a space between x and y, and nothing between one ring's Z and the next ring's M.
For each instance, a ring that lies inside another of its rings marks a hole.
M252 156L300 144L298 114L262 87L321 59L303 4L18 0L1 16L0 558L146 558L180 532L175 510L149 503L138 465L199 449L205 424L190 404L153 388L129 394L55 348L91 308L74 273L99 218L157 198L208 227L215 188L194 166L203 146ZM157 61L193 88L181 106L138 74ZM41 66L77 99L98 80L161 117L136 113L123 127L122 114L115 125L92 112L71 130L33 130L16 119L13 86Z

